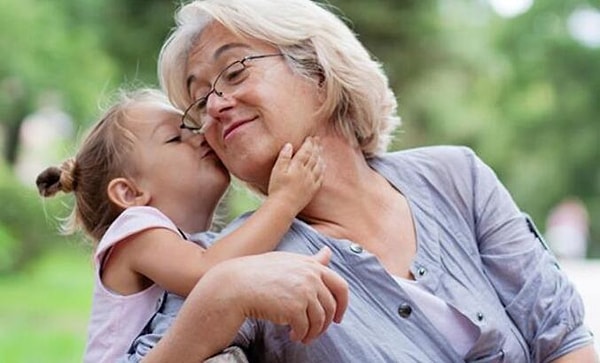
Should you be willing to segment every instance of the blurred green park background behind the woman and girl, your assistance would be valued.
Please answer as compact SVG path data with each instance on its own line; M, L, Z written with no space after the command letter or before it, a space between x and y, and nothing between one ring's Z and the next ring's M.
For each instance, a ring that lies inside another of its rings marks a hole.
M600 5L585 0L331 0L385 66L393 149L463 144L543 231L567 197L600 256ZM91 250L59 235L68 197L34 179L71 155L123 83L156 84L174 1L0 2L0 360L77 362ZM255 205L231 193L229 218Z

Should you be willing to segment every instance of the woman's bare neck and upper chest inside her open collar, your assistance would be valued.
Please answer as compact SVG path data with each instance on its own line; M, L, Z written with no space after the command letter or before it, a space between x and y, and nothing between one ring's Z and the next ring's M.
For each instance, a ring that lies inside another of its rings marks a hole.
M326 236L361 244L389 273L409 278L417 240L407 199L360 150L324 150L323 186L299 217Z

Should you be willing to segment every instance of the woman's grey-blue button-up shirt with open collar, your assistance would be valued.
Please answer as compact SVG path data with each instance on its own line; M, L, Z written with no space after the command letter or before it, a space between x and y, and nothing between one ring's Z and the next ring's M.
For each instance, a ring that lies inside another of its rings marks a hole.
M350 286L341 324L309 345L286 327L249 319L235 344L257 362L546 362L592 343L583 303L531 221L470 149L438 146L369 160L409 201L417 232L417 283L479 330L460 357L360 241L329 238L296 220L278 250L333 250L330 267ZM244 217L224 231L235 229ZM129 356L164 332L181 304L170 296ZM209 329L209 327L207 327ZM200 343L200 342L199 342Z

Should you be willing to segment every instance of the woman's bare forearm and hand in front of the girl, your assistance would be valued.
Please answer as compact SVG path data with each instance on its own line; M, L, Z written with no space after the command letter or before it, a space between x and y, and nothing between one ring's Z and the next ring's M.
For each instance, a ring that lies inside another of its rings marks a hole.
M289 325L310 342L340 322L348 286L325 267L331 251L314 257L286 252L241 257L210 270L194 287L167 334L143 362L198 362L233 340L246 317Z

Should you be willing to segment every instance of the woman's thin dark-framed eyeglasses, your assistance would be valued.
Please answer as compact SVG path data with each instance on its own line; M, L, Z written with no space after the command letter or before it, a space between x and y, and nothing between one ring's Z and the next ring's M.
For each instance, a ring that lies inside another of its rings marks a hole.
M280 56L283 56L283 53L249 55L225 67L221 72L219 72L217 78L215 78L210 91L208 91L204 96L196 99L191 105L188 106L188 108L185 109L183 116L181 116L181 125L179 127L182 129L188 129L194 133L201 133L204 131L202 129L204 126L202 119L206 117L206 105L210 95L214 93L219 97L223 97L224 93L230 94L235 90L236 87L239 87L242 83L244 83L244 81L248 79L248 76L250 75L250 71L248 70L246 62L255 59Z

